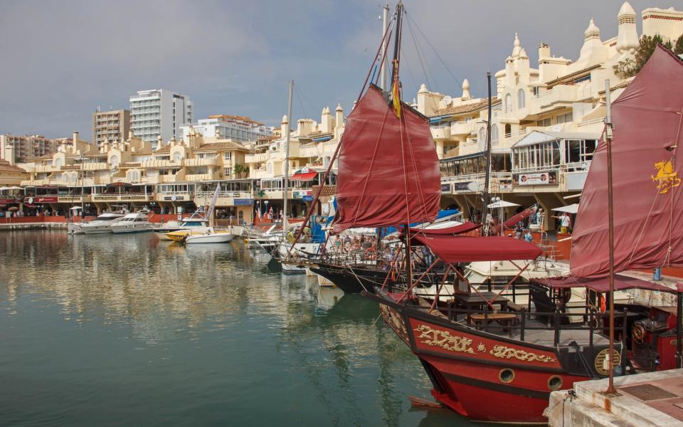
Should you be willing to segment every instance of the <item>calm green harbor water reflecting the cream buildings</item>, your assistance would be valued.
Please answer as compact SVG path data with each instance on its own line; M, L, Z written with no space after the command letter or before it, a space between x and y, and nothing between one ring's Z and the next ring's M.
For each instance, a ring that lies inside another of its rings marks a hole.
M360 295L240 241L0 234L0 426L469 426Z

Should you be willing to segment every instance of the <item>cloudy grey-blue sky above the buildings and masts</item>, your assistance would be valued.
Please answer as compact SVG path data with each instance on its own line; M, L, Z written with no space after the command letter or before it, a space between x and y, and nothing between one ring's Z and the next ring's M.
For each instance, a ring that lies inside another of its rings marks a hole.
M421 83L459 96L462 79L485 97L486 72L504 68L514 33L538 61L541 42L576 60L593 18L617 32L622 1L405 0L403 97ZM189 95L195 120L248 115L279 127L292 115L348 113L381 39L378 0L0 0L0 134L92 137L92 112L128 108L138 90ZM683 9L680 0L632 0ZM391 5L393 8L395 5Z

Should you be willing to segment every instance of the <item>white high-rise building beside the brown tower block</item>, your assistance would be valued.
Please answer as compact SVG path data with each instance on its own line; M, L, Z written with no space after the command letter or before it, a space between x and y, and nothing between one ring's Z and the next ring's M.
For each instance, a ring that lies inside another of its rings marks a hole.
M159 137L164 142L182 137L180 127L191 124L192 110L187 95L166 89L141 90L130 97L130 130L156 149Z

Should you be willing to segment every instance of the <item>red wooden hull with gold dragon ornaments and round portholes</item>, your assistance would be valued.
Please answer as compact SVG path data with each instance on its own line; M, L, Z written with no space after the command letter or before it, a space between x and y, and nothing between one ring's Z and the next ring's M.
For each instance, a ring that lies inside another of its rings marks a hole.
M604 346L531 344L397 304L386 295L367 296L379 302L383 320L422 362L435 399L474 421L545 424L551 391L600 376L589 365Z

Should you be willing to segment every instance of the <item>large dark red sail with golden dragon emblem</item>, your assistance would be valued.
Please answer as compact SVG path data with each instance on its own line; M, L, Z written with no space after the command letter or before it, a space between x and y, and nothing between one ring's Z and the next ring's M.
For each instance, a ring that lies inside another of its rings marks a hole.
M612 104L615 272L683 266L682 112L683 61L658 46ZM573 229L573 277L609 274L607 192L600 141Z

